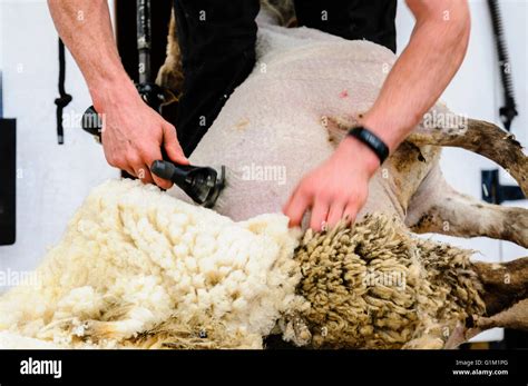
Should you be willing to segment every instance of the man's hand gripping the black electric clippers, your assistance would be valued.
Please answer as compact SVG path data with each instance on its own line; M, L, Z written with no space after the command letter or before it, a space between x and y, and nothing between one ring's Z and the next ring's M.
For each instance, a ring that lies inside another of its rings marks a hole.
M110 91L111 93L113 91ZM162 148L169 160L188 165L173 125L148 107L137 93L108 98L95 103L102 115L102 147L109 165L127 171L145 184L156 184L163 189L173 186L150 172L155 160L160 160Z

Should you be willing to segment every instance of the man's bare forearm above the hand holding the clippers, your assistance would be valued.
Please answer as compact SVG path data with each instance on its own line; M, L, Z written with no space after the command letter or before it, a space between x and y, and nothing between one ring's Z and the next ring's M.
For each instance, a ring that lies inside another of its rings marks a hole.
M107 0L48 0L48 4L60 37L82 71L96 108L111 99L109 93L116 88L123 93L135 93L117 51Z

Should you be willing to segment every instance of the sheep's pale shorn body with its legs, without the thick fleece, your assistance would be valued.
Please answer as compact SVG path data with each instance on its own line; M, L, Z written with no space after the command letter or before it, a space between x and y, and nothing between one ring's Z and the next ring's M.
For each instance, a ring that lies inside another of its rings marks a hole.
M255 70L227 100L190 157L197 164L227 165L238 176L232 178L217 208L238 220L281 209L299 179L327 158L348 128L372 106L395 60L389 50L366 41L344 41L309 28L285 28L295 23L292 1L261 4ZM177 91L182 80L173 18L167 62L157 81ZM439 101L371 180L360 221L368 214L381 212L404 225L400 232L407 228L417 234L486 236L528 247L528 210L480 202L456 191L439 166L442 146L463 148L496 161L528 192L528 158L520 143L496 125L459 116ZM283 166L286 184L247 180L243 169L254 164ZM170 194L185 199L176 189ZM448 269L449 264L444 267ZM526 294L526 286L520 287ZM501 291L512 296L508 288ZM526 309L514 308L518 313ZM506 311L501 318L479 323L518 325L522 314L514 314Z

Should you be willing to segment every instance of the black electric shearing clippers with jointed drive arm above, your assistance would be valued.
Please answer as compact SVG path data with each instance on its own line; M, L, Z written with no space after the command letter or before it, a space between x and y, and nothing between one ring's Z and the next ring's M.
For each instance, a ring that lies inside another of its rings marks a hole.
M174 95L150 81L150 0L136 0L137 18L137 49L139 73L136 89L141 99L154 110L162 112L162 107L175 99ZM82 129L91 133L101 142L102 121L94 109L89 107L82 116ZM175 165L168 160L162 149L163 160L154 161L150 171L156 176L173 181L184 190L196 204L212 208L225 187L225 167L215 170L211 167L192 165Z

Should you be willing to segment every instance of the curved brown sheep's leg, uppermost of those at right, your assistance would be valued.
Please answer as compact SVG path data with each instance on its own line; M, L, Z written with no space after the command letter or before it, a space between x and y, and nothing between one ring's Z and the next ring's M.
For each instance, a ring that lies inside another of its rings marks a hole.
M458 147L479 154L500 165L528 196L528 157L515 137L493 123L459 119L459 126L426 128L420 126L408 138L414 145Z

